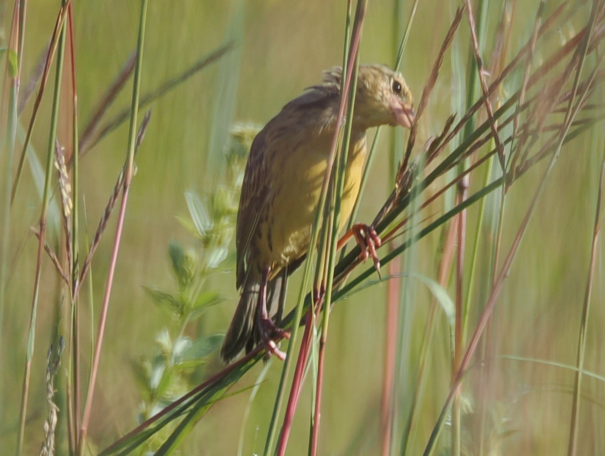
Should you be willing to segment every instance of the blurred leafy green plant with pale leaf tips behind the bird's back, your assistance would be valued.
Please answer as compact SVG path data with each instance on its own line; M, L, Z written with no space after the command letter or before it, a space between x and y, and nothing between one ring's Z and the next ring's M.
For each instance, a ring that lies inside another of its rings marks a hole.
M165 312L169 325L155 337L154 354L134 364L134 372L143 398L140 421L158 414L166 406L191 390L203 377L207 358L223 341L222 334L188 335L211 306L223 301L209 285L212 274L224 270L234 233L243 171L247 153L258 128L236 125L232 129L231 148L225 156L223 182L204 197L193 191L185 194L189 217L180 217L183 226L194 237L192 246L172 241L168 254L175 279L174 291L147 286L145 291ZM166 426L146 444L148 451L157 451L174 426Z

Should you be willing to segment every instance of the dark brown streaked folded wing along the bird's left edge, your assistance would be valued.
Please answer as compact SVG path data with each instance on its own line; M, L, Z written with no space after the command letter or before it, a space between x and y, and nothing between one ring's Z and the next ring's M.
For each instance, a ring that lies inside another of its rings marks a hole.
M241 186L240 208L237 213L235 246L237 248L236 286L238 289L246 279L249 268L247 262L250 241L257 230L258 220L266 207L269 195L266 148L266 131L261 130L254 138L250 148L244 182Z

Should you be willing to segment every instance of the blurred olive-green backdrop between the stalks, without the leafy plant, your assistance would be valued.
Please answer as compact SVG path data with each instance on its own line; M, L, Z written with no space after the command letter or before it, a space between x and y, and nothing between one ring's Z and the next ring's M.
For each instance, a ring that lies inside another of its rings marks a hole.
M48 42L58 3L28 2L24 81L28 81ZM500 2L493 3L488 36L494 35L502 10ZM401 18L395 18L393 2L370 2L361 45L362 62L393 64L399 40L394 31L395 24L397 20L407 21L411 8L411 2L403 4ZM517 3L514 30L518 36L511 40L515 49L531 35L537 4L534 0ZM546 14L554 6L549 5ZM456 7L456 2L445 0L419 4L401 67L416 99L420 97ZM12 8L12 2L0 7L4 40L8 36ZM580 15L580 18L586 18L589 9L585 9L586 15ZM238 14L243 14L241 22ZM93 0L74 4L77 94L82 124L88 121L106 88L136 46L138 17L139 2L135 1ZM221 106L228 107L230 97L235 97L232 121L260 125L267 122L304 87L318 82L322 70L341 64L344 18L344 1L149 2L142 93L161 85L200 56L217 48L227 39L229 30L235 30L234 35L236 38L240 35L240 41L224 57L231 59L232 74L220 73L223 61L218 61L151 105L151 122L136 160L137 174L126 211L89 431L91 440L99 449L137 424L140 395L131 363L152 354L154 339L166 323L162 309L145 295L143 286L174 287L167 254L168 242L177 239L184 245L194 244L176 216L186 217L188 214L183 196L185 191L195 190L203 194L212 191L220 180L224 148L211 147L212 122L217 118L215 113ZM571 36L577 31L575 27L577 24L573 22L563 24L558 29L560 39ZM459 58L466 61L468 24L465 24L465 19L461 29ZM487 47L491 49L489 40ZM540 51L535 55L536 61L543 57ZM420 124L419 145L424 144L431 134L438 133L446 117L453 112L453 106L460 105L460 93L456 90L457 83L451 79L450 67L448 53L427 114ZM67 71L64 74L67 76ZM227 90L221 90L221 81L226 83ZM68 104L67 78L64 89L63 99ZM109 117L129 105L130 90L129 83L111 108ZM598 96L603 102L603 94ZM44 160L47 147L50 100L51 97L46 96L43 101L32 141L41 160ZM27 128L32 105L30 100L20 117L22 129ZM226 111L224 121L229 120L229 109ZM59 139L65 143L70 137L70 127L69 117L64 114ZM223 127L229 128L229 125ZM390 191L388 182L392 174L387 149L391 132L387 130L384 133L358 217L364 222L373 219ZM80 182L90 233L96 229L123 165L127 135L125 124L103 139L81 161ZM497 354L574 365L602 148L603 134L591 131L564 149L538 203L492 317L490 340ZM4 162L2 164L5 165ZM541 167L538 168L543 169ZM39 194L27 166L26 171L12 212L8 254L11 274L4 303L0 363L0 448L3 454L13 451L16 440L27 342L25 328L30 316L36 264L37 242L30 226L35 226L39 218ZM505 251L528 208L528 198L534 193L538 175L537 170L528 173L515 183L507 197L503 234ZM471 187L478 186L479 182L471 178ZM439 207L434 209L437 210ZM497 213L495 199L488 205L488 211ZM468 226L474 226L476 216L476 208L471 208ZM115 218L111 220L93 262L95 332L114 230ZM56 239L50 239L50 242L56 242ZM605 351L601 348L605 336L601 328L605 325L605 268L602 242L598 252L586 369L603 375ZM414 272L436 277L438 254L437 234L422 240L414 253ZM47 414L46 351L54 335L54 309L62 299L54 267L47 257L44 261L25 454L37 454L43 438L42 425ZM188 328L192 335L197 331L206 334L225 331L237 300L235 271L227 269L223 274L213 276L209 282L209 286L223 292L226 302L209 309L199 326ZM297 279L295 276L290 287L292 296L298 291L295 286ZM386 289L385 285L364 289L339 303L332 314L320 454L379 454ZM453 293L453 287L448 291ZM487 292L485 283L476 286L471 300L473 309L484 305ZM417 365L417 351L430 301L430 293L419 286L413 306L407 312L410 317L408 324L417 328L417 333L414 331L417 335L408 346L410 366ZM66 309L65 305L63 308ZM90 319L88 303L82 307L80 318L82 322ZM90 325L84 324L83 328L83 339L87 340ZM429 380L422 395L422 413L411 436L411 454L419 454L424 449L450 383L449 335L445 319L438 322L436 328L427 366ZM84 352L88 349L88 346L83 348ZM488 389L489 414L494 424L486 430L491 433L489 454L566 454L574 372L506 359L494 360L493 367ZM220 368L218 354L215 354L206 372L211 374ZM252 385L261 368L253 369L235 388ZM481 378L480 370L480 366L474 366L467 374L465 385L468 386L465 388L470 391L465 397L471 410L474 405L473 388ZM258 454L263 450L280 372L278 363L273 362L245 423L243 454ZM405 372L403 378L405 384L401 385L401 391L411 391L416 378L414 368ZM580 441L585 452L581 454L601 454L605 451L604 383L584 378L583 388ZM198 423L194 435L188 437L182 454L235 454L247 400L248 394L244 392L217 403ZM309 408L307 385L288 454L307 452ZM476 437L473 434L476 432L476 426L473 426L476 417L471 411L465 416L468 417L464 423L465 435L473 440ZM443 439L447 440L448 435L445 434L448 433L443 432Z

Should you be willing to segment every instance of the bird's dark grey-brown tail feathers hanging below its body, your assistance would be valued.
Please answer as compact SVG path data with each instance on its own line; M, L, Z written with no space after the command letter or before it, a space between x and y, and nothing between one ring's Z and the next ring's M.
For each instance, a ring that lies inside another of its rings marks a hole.
M240 299L221 347L221 358L226 363L234 359L244 348L246 353L249 353L261 341L257 325L261 280L260 274L253 274L250 271L241 286ZM284 310L286 282L287 269L284 268L275 279L267 283L267 313L276 325L280 325Z

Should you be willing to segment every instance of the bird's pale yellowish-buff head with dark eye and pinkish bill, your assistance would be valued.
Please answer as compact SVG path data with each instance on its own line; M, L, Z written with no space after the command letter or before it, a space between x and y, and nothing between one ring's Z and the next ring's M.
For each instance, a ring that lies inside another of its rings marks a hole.
M341 78L341 67L324 74L324 82L332 84L340 84ZM387 124L411 128L412 94L401 73L385 65L359 65L353 116L365 128Z

